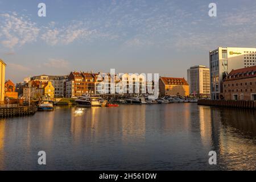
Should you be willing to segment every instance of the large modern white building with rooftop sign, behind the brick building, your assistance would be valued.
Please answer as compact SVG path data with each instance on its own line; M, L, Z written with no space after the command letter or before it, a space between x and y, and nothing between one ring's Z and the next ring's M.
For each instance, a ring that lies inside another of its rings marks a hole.
M232 71L256 65L256 48L218 47L209 52L210 97L220 100L222 80Z

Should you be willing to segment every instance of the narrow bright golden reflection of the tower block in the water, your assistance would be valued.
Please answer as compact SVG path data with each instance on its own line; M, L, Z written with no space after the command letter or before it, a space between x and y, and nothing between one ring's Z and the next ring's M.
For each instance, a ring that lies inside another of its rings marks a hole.
M209 145L212 140L212 121L210 115L210 107L199 106L200 135L204 146Z

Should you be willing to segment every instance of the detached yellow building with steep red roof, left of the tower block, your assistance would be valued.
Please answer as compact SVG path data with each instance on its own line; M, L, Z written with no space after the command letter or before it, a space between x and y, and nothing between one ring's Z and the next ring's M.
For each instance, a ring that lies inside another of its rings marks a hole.
M185 78L160 77L160 96L189 96L189 85Z

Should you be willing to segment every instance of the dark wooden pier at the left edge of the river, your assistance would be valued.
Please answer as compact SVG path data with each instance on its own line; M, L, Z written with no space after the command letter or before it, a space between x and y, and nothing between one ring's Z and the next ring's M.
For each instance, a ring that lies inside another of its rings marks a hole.
M37 106L0 107L0 117L34 114L37 110Z

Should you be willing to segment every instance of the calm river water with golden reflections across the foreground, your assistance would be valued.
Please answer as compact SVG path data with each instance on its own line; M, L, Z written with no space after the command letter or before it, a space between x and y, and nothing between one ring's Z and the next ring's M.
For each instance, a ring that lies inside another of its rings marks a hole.
M209 151L217 152L216 165ZM0 119L0 170L53 169L255 170L256 111L187 103L56 106Z

